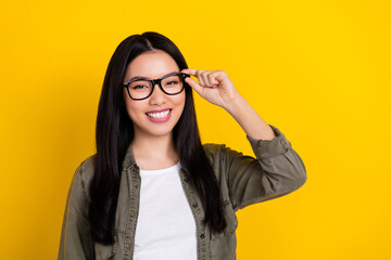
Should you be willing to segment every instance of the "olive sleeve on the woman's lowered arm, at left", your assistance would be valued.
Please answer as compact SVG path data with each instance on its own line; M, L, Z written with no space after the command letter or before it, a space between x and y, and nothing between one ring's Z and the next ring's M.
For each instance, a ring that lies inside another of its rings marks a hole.
M62 225L59 260L93 258L88 221L88 196L83 181L83 164L76 169L68 190Z

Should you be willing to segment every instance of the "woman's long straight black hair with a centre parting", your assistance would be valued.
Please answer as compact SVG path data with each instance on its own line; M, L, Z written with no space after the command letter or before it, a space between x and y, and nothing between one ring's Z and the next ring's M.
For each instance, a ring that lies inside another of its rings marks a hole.
M134 139L133 121L124 104L122 82L127 65L136 56L152 50L163 50L168 53L180 70L188 67L174 42L154 31L133 35L116 48L109 63L99 101L94 176L89 187L91 237L98 243L114 243L114 219L122 162ZM180 165L184 171L188 172L204 207L204 223L212 232L219 233L226 227L220 191L201 144L192 89L187 83L185 83L185 92L184 112L173 129L174 142Z

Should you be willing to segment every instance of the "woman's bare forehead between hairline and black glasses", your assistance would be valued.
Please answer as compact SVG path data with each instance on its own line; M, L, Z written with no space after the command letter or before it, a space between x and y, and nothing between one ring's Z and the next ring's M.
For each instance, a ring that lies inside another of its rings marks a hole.
M164 51L144 52L133 60L127 66L125 78L142 76L159 78L172 72L179 72L175 60Z

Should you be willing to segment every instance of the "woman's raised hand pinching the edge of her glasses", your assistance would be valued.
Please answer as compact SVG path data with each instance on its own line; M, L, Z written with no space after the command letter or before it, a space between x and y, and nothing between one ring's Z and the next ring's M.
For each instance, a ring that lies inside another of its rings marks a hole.
M182 69L181 73L195 76L199 82L190 77L186 78L185 81L202 98L225 109L240 96L227 73L224 70L187 68Z

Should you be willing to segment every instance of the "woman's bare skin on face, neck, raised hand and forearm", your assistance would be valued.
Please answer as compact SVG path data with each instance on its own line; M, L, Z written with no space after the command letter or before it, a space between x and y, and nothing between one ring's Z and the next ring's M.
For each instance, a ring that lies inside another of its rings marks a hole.
M150 51L128 65L124 81L135 76L160 78L172 72L179 72L174 58L161 50ZM203 99L226 109L250 138L269 141L275 138L273 129L239 94L226 72L188 68L181 73L195 77L198 82L192 78L187 78L186 82ZM124 88L124 100L135 126L131 145L138 166L144 170L156 170L177 164L179 156L174 145L173 128L185 106L185 91L166 95L155 86L150 98L134 101ZM165 122L152 122L146 115L147 112L164 108L172 108L171 118Z

